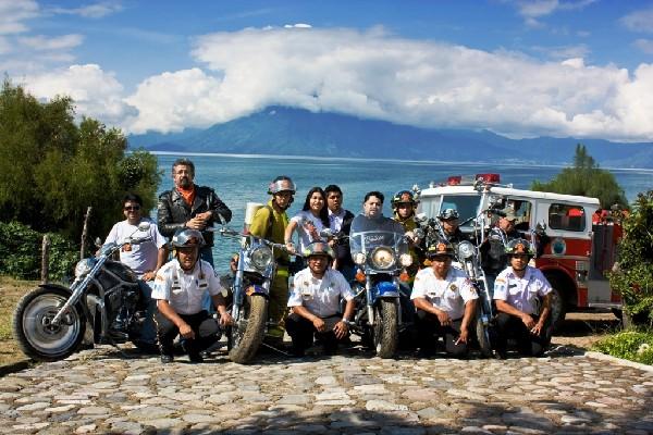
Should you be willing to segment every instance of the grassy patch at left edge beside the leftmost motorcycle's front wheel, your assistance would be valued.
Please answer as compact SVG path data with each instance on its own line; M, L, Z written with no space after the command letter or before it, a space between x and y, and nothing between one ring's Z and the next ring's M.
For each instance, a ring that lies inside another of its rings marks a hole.
M27 360L13 339L11 323L21 297L37 285L36 281L0 276L0 366Z

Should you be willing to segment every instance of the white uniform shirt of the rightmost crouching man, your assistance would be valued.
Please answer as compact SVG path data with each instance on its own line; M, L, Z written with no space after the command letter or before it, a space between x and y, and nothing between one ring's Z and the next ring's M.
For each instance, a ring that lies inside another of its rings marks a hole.
M494 299L505 300L527 314L534 313L538 298L549 295L551 290L551 284L542 272L530 265L526 266L522 278L508 266L494 281Z

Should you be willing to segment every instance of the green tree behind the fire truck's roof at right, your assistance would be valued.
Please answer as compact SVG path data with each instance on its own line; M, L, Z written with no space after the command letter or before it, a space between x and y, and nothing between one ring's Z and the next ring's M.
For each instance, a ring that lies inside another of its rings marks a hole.
M628 208L624 189L615 176L609 171L600 169L594 159L588 154L584 145L581 144L576 146L572 167L563 169L549 183L534 181L531 189L599 198L601 207L604 209L615 203L621 208Z

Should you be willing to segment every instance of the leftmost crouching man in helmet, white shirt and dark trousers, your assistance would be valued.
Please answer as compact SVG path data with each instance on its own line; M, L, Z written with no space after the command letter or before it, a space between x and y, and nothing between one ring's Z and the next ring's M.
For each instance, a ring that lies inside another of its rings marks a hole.
M199 259L204 245L197 229L180 229L172 237L175 259L164 264L155 278L152 299L157 299L159 311L155 316L161 362L173 360L174 337L181 335L190 362L202 362L200 352L218 339L215 320L202 310L202 298L208 291L218 312L220 325L230 325L233 320L226 311L222 286L213 268Z

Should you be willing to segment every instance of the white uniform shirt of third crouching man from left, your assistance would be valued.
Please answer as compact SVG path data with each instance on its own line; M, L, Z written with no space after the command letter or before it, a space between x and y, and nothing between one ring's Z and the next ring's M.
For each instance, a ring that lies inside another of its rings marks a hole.
M426 298L433 307L446 312L452 320L457 320L465 314L465 303L478 299L479 296L465 272L449 268L446 278L439 279L432 268L426 268L415 276L410 299L417 298Z

